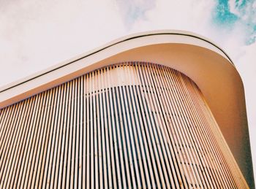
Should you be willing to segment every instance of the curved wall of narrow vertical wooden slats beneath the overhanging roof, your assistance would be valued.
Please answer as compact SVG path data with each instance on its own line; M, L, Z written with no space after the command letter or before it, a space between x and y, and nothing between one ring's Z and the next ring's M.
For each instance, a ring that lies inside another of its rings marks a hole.
M195 82L97 69L0 109L0 188L247 188Z

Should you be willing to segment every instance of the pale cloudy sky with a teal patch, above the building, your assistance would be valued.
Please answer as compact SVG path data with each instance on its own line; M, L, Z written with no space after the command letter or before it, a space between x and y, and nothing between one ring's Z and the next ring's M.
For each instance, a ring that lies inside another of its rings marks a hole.
M0 0L0 87L118 37L159 29L206 36L235 63L256 175L256 0Z

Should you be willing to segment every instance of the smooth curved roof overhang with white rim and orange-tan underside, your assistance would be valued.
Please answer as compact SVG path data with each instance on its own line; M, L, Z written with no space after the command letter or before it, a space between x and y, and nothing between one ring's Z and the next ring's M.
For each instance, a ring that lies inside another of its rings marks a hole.
M151 31L117 39L79 57L0 88L0 108L53 88L94 69L124 61L170 66L202 91L241 170L249 148L244 87L227 54L202 36L184 31ZM246 155L244 155L246 154ZM246 176L246 175L245 175Z

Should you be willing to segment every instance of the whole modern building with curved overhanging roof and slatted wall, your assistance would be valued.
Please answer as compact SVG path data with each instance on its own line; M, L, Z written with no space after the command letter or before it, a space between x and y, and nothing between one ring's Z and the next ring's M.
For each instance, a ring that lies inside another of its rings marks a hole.
M151 31L0 90L1 188L254 188L244 87L202 36Z

